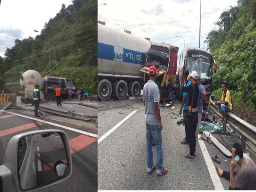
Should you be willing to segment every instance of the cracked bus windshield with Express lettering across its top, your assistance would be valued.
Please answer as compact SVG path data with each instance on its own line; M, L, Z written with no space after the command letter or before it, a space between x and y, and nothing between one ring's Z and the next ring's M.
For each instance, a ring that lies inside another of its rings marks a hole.
M200 51L188 52L186 69L189 74L196 71L201 77L201 82L209 82L212 79L211 55Z

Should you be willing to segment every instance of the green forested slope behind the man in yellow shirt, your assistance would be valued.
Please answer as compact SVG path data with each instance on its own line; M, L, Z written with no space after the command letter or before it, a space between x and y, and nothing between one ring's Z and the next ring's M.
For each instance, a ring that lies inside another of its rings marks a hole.
M256 0L238 0L221 13L206 41L218 67L213 94L221 97L221 82L232 90L235 111L256 112Z

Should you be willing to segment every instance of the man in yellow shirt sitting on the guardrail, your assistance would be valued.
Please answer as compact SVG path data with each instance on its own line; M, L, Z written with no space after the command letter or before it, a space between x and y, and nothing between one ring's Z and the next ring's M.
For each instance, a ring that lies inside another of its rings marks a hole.
M231 112L233 106L232 106L232 100L230 92L227 89L227 84L225 82L221 83L221 89L222 89L222 97L221 101L215 101L215 105L218 108L218 111L222 114L222 123L227 122L227 112Z

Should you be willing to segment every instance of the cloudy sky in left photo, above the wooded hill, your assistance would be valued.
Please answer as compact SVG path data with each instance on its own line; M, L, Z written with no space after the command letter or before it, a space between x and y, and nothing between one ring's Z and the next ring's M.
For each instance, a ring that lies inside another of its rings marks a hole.
M0 56L15 39L35 37L44 23L56 16L61 5L68 7L72 0L2 0L0 5Z

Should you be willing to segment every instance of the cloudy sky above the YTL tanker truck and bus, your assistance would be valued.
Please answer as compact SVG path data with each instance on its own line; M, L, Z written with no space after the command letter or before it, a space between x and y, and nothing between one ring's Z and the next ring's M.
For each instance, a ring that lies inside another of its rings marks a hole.
M100 5L107 3L107 5ZM98 0L98 20L133 35L150 37L151 41L167 42L179 47L198 47L200 0ZM237 0L202 0L201 48L224 9L236 6Z

